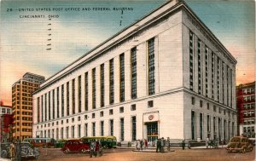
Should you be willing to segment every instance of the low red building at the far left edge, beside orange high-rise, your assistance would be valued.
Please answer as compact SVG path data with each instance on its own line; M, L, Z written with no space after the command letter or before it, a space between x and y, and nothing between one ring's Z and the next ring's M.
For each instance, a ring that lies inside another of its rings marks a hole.
M12 106L3 105L0 102L0 142L7 142L11 139L11 128L13 124Z

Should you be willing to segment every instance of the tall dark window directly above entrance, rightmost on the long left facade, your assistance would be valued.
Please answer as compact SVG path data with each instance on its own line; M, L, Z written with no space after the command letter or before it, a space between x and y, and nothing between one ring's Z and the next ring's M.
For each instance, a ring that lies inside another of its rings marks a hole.
M148 95L154 95L154 38L148 40Z

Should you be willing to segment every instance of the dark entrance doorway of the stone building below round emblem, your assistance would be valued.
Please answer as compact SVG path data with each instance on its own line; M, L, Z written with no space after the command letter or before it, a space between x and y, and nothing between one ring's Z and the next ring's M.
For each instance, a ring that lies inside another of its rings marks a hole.
M146 123L148 142L154 142L158 139L158 122Z

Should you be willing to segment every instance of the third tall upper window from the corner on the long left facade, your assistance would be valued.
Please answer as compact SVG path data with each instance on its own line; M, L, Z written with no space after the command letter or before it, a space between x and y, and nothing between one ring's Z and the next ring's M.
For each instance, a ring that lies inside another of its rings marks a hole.
M125 101L125 55L119 55L120 62L120 101Z

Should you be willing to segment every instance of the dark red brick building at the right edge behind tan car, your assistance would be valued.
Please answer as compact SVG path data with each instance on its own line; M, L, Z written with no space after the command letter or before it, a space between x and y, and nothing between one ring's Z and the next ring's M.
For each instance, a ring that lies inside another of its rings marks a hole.
M255 81L236 86L239 134L255 137Z

